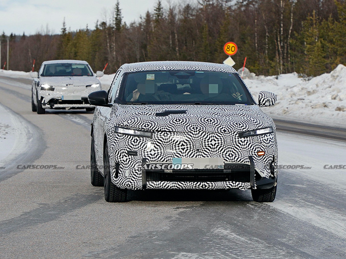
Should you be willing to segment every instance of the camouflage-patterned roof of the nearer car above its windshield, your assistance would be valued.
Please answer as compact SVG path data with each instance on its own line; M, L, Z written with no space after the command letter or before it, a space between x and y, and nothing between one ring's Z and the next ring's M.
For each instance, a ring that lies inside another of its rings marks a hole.
M227 64L217 64L196 61L150 61L123 64L124 72L157 71L157 70L193 70L193 71L218 71L226 73L237 73Z

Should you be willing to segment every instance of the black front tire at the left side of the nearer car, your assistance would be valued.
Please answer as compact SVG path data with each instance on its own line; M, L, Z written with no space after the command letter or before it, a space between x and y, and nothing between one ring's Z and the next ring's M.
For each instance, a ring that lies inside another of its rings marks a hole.
M103 154L103 170L104 170L104 199L107 202L125 202L127 189L120 189L114 185L110 179L109 154L107 142L104 146Z

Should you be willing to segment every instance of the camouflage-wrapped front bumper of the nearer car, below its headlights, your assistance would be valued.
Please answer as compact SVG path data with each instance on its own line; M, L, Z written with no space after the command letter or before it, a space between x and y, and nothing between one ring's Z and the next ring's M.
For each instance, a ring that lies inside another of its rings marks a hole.
M275 133L249 137L246 140L239 140L237 133L229 132L224 135L208 133L208 138L205 138L206 133L195 132L157 132L152 138L111 133L107 137L111 180L123 189L245 190L270 188L275 184L277 177ZM264 150L266 154L258 156L258 150ZM204 172L203 170L165 172L142 169L145 165L157 164L158 161L172 164L174 157L222 157L224 165L222 169L204 170ZM243 170L232 170L231 167L231 170L227 171L227 165L242 165ZM235 175L232 175L233 173Z

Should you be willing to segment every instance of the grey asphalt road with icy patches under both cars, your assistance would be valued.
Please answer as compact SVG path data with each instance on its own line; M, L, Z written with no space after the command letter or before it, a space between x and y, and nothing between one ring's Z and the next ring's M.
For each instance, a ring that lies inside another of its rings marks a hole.
M313 172L280 170L273 203L255 203L241 190L146 190L131 192L127 203L105 202L90 171L77 169L90 164L92 113L33 113L30 84L0 77L0 103L30 136L28 149L0 170L0 258L345 257L346 191L333 184L340 179ZM277 126L335 131L343 141L335 128Z

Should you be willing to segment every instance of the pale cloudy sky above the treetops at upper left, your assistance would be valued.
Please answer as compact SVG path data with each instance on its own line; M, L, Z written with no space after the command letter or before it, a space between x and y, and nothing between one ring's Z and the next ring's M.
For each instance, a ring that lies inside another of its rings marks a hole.
M117 0L0 0L0 34L60 34L65 18L72 31L95 27L97 20L109 21ZM170 1L174 3L173 1ZM157 0L120 0L123 21L139 21L153 12ZM164 7L167 0L161 0Z

